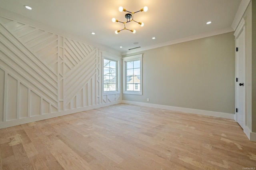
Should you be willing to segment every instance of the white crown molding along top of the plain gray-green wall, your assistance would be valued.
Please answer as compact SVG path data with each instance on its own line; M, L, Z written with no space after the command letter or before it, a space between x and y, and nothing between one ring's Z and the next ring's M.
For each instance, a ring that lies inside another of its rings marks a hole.
M151 46L147 46L147 47L141 47L141 48L134 49L134 50L131 50L131 51L125 51L125 52L122 53L122 55L136 53L136 52L145 51L145 50L148 50L148 49L154 49L154 48L158 48L158 47L164 47L164 46L173 45L173 44L176 44L176 43L188 42L188 41L197 40L197 39L200 39L200 38L216 36L216 35L225 34L225 33L233 32L233 31L234 31L234 29L231 28L231 27L224 28L224 29L219 29L219 30L214 30L212 32L198 34L198 35L194 35L194 36L190 36L190 37L186 37L186 38L181 38L181 39L178 39L178 40L172 40L172 41L165 42L165 43L159 43L159 44L151 45Z

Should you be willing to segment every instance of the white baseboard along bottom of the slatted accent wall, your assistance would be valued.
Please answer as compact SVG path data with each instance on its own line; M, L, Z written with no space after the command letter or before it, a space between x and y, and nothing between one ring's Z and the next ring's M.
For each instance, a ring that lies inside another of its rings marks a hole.
M16 126L16 125L22 125L22 124L25 124L25 123L42 121L42 120L45 120L45 119L50 119L50 118L54 118L54 117L69 115L69 114L72 114L72 113L88 111L88 110L97 109L97 108L100 108L100 107L116 105L116 104L119 104L119 103L122 103L122 102L121 101L115 101L115 102L104 103L104 104L100 104L100 105L93 105L93 106L88 106L88 107L81 107L81 108L78 108L78 109L71 109L71 110L68 110L68 111L59 111L59 112L55 112L55 113L48 113L48 114L45 114L45 115L38 115L38 116L34 116L34 117L26 117L26 118L22 118L22 119L15 119L15 120L12 120L12 121L1 122L0 129L1 128L7 128L7 127L13 127L13 126Z

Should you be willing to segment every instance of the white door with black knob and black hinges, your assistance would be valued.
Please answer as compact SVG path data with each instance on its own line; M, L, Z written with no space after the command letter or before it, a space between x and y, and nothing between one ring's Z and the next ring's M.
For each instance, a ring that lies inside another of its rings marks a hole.
M245 126L245 31L236 37L236 120Z

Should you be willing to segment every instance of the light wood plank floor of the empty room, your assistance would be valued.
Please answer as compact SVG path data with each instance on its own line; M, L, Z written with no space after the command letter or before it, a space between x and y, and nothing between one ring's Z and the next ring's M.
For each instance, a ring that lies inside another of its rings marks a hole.
M256 169L233 120L119 104L0 129L0 170Z

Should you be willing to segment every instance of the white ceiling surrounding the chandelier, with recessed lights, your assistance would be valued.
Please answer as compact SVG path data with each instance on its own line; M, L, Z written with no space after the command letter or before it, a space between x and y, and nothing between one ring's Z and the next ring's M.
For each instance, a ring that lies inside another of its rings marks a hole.
M0 8L86 43L127 53L128 49L138 46L145 49L218 30L230 32L234 30L231 26L240 3L241 0L0 0ZM24 5L31 6L32 10ZM115 34L115 30L121 30L124 25L113 23L112 18L126 21L127 12L119 12L119 6L130 12L148 6L147 12L134 14L134 20L144 22L144 27L130 22L126 28L135 29L135 34L128 30ZM212 24L206 25L208 21Z

